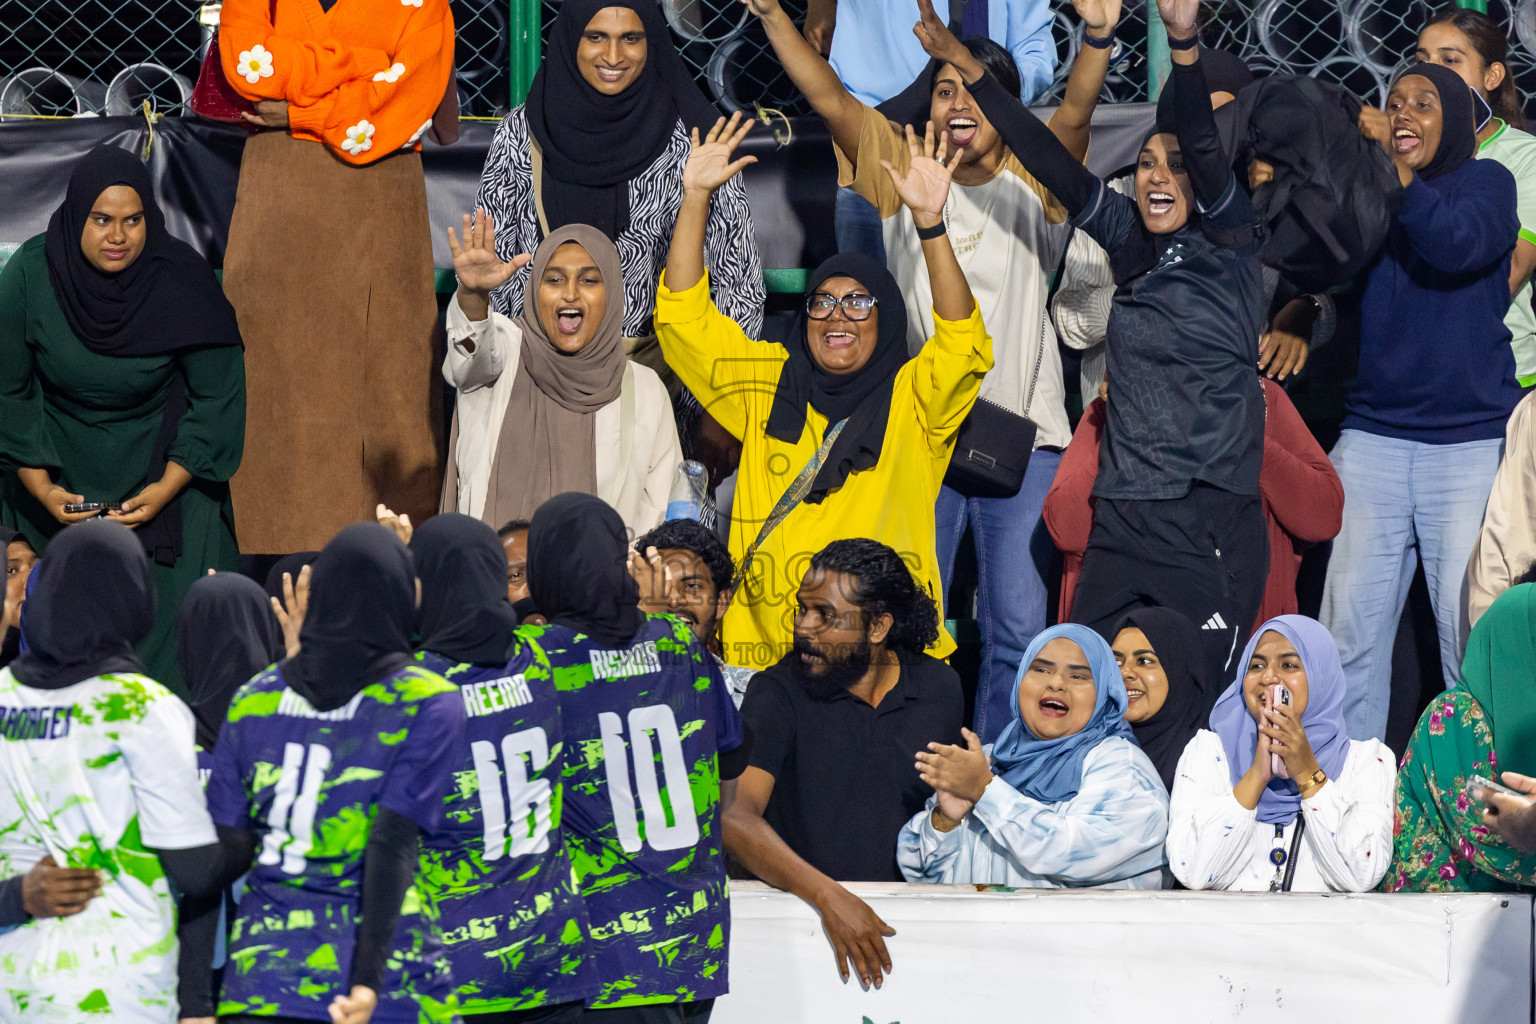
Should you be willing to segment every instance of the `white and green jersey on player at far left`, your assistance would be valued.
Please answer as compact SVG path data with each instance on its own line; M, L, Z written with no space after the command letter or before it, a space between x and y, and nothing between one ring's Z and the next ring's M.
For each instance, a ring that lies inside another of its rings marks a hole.
M177 1019L177 910L154 849L214 843L192 712L137 674L63 689L0 669L0 878L52 855L101 895L0 933L0 1021Z

